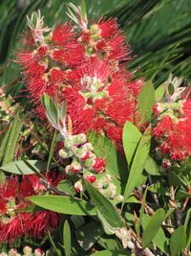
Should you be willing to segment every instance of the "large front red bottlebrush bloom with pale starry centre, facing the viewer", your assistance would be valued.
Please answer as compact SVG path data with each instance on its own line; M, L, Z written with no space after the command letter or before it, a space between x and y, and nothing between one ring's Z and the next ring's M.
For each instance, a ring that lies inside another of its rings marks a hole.
M131 74L126 75L124 69L112 74L106 60L98 58L91 58L69 72L71 87L67 86L63 95L74 133L86 133L94 128L96 131L104 130L107 136L113 133L110 137L114 141L119 132L120 139L115 142L118 144L120 141L121 144L122 128L126 120L134 121L138 91L143 84L140 80L129 81L130 78ZM112 129L117 130L116 135Z

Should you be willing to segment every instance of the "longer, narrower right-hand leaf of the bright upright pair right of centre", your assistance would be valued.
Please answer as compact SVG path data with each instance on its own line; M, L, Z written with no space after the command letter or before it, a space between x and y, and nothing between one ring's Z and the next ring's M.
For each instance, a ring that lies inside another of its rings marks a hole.
M151 132L150 128L147 128L142 135L140 142L138 144L138 149L136 151L133 163L131 166L130 174L127 180L127 184L124 192L124 202L129 198L133 190L139 186L139 178L142 175L142 171L145 166L146 159L150 151Z

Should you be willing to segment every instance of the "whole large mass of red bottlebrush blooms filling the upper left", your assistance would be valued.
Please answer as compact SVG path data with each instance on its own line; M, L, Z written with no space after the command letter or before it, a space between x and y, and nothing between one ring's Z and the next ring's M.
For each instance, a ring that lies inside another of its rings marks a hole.
M79 14L79 13L78 13ZM17 54L24 79L41 118L45 117L40 97L46 92L66 100L73 133L95 129L121 147L126 120L134 122L142 80L133 80L126 67L129 45L116 19L88 24L80 16L79 30L71 23L49 30L31 27L28 50Z

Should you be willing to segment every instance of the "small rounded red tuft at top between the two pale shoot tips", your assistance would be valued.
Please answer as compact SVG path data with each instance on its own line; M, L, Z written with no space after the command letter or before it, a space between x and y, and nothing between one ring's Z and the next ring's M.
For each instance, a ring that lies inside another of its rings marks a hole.
M66 46L75 40L74 36L72 25L65 23L55 26L51 40L57 45Z

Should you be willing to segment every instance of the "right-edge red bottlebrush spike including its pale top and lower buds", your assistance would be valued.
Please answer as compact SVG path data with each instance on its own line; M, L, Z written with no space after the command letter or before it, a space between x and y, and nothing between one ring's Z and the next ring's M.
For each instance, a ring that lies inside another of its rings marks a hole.
M191 155L191 100L188 99L189 93L185 93L185 87L173 85L174 93L170 95L167 91L166 101L153 106L153 136L158 143L156 152L164 169Z

